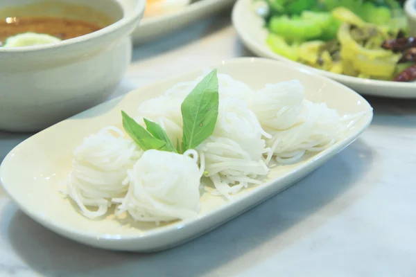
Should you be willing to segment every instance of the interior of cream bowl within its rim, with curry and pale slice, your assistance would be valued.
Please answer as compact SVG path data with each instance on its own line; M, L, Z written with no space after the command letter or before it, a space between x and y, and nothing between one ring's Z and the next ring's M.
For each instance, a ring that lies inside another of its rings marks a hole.
M88 6L59 1L3 8L0 10L0 46L17 47L60 42L94 33L114 21L117 19Z

